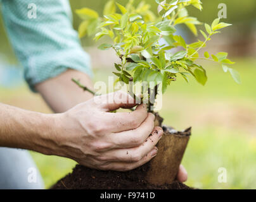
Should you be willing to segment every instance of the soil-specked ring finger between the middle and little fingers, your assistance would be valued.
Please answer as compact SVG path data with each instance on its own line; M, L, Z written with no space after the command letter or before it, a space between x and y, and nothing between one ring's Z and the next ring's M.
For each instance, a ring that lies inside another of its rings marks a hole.
M104 157L100 157L99 160L106 162L139 162L155 148L155 145L162 137L163 130L160 127L156 127L151 134L142 145L136 148L106 151Z

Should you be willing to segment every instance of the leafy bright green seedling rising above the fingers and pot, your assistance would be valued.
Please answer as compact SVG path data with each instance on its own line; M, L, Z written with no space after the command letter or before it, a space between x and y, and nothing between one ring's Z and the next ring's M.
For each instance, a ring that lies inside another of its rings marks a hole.
M189 76L198 81L201 85L207 82L205 68L197 63L199 60L218 62L224 72L229 71L237 83L240 83L240 76L236 70L229 65L234 64L227 59L226 52L219 52L210 55L207 51L203 57L199 52L206 47L207 42L213 35L220 33L219 30L231 24L220 22L217 18L212 25L204 23L204 29L200 30L203 40L197 40L187 44L181 35L176 35L176 25L184 24L191 32L198 37L198 25L203 23L197 18L189 16L187 7L194 6L200 11L202 2L200 0L155 0L158 4L156 16L151 10L150 4L141 1L134 6L134 0L130 0L126 6L111 0L106 3L103 16L93 9L82 8L76 13L82 18L79 27L79 36L93 35L98 41L108 36L111 44L101 44L99 49L115 50L120 58L120 64L115 64L117 81L123 81L127 85L129 81L155 82L154 86L148 85L148 107L154 104L149 98L153 94L155 98L158 90L164 93L172 82L177 80L180 74L184 80L189 81ZM200 38L200 37L198 37ZM180 49L177 51L177 49ZM161 83L159 88L157 83ZM132 92L132 86L129 88ZM142 96L141 96L142 97ZM144 97L145 98L145 97Z

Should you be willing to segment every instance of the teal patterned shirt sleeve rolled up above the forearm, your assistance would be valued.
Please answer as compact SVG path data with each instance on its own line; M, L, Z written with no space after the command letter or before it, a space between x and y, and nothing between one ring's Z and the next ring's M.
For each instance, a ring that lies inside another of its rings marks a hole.
M2 0L6 32L30 88L68 68L92 76L88 54L72 27L68 0Z

